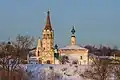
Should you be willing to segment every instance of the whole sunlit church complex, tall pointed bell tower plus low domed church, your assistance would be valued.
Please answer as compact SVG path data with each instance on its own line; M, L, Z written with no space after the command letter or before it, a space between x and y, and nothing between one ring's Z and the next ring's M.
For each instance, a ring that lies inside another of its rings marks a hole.
M37 40L34 56L29 57L28 63L61 64L59 57L67 55L70 59L77 59L79 64L88 64L88 50L77 45L75 28L71 30L71 43L63 48L54 47L54 30L52 28L50 11L47 12L46 24L42 30L42 38Z

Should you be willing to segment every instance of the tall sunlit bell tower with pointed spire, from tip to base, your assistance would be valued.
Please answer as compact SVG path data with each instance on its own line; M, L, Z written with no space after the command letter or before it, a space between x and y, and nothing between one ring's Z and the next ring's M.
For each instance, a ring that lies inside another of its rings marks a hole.
M42 31L43 63L54 63L54 30L50 21L50 11L47 12L45 27Z

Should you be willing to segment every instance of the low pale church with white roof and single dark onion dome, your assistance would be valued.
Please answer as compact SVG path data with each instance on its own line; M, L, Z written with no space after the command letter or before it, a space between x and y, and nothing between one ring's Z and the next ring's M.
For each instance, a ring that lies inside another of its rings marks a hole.
M74 26L71 30L71 43L63 48L59 49L61 55L66 55L71 60L76 60L80 65L88 64L88 50L86 48L80 47L76 43L75 29Z

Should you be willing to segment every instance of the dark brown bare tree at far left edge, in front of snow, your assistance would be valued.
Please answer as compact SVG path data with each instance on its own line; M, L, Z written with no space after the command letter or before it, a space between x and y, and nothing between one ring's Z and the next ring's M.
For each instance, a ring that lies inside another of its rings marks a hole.
M8 77L12 74L12 71L17 67L19 59L16 54L16 48L11 45L10 42L1 46L0 51L0 65L1 68L8 72Z

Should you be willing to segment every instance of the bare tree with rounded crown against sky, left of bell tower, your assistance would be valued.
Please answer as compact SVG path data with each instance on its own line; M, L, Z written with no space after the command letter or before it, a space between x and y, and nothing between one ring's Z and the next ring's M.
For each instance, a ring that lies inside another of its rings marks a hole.
M34 37L18 35L14 41L14 45L18 49L18 53L21 55L21 59L24 63L25 60L27 60L27 54L29 54L29 51L34 49Z

